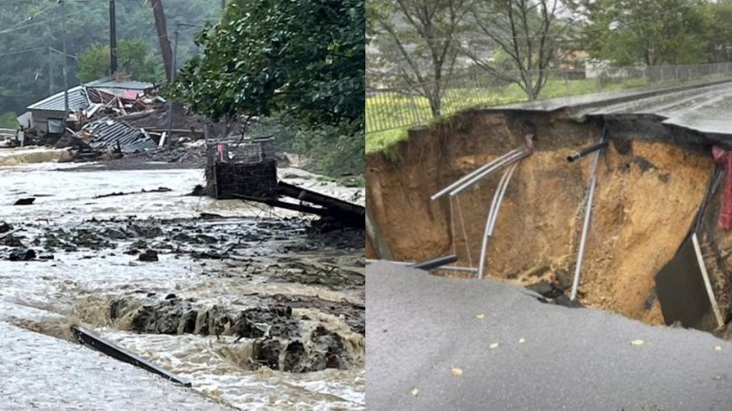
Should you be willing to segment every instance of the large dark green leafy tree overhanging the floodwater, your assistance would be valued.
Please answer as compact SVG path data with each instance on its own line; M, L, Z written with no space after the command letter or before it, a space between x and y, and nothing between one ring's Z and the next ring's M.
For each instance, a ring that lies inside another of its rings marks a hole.
M234 0L171 87L214 120L281 112L302 127L364 127L363 0ZM361 153L363 154L363 153Z

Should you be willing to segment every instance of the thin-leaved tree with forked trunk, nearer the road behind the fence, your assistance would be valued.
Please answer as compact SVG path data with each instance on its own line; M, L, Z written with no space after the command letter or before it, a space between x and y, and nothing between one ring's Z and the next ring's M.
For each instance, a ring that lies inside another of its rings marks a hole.
M546 69L556 56L556 39L572 23L557 18L561 0L477 1L469 12L471 29L507 54L515 73L498 68L485 55L463 48L479 67L501 80L516 83L530 100L539 97L547 81Z

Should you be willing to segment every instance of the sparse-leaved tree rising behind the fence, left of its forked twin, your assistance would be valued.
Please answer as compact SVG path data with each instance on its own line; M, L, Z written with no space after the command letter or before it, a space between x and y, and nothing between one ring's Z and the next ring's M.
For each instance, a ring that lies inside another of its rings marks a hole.
M457 33L471 0L368 1L375 29L388 36L403 64L397 72L417 93L427 98L433 117L441 114L445 75L458 56Z

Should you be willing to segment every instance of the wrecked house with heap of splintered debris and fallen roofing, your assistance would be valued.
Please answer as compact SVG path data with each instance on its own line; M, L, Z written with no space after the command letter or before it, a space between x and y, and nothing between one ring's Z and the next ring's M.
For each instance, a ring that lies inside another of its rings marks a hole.
M169 137L165 131L168 108L152 83L108 78L70 88L67 94L70 114L65 121L64 91L29 105L29 111L18 118L21 145L71 148L72 161L94 161L154 151ZM187 141L203 138L203 127L196 129L192 121L182 121L187 120L184 114L176 117L171 134L185 136ZM193 123L201 123L198 116L193 117ZM146 127L138 124L141 119L147 119Z

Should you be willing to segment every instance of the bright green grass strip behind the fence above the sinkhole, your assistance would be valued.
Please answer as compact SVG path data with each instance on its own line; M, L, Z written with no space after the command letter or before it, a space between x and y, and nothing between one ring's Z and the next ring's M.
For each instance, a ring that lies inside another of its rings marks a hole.
M701 78L699 78L701 79ZM675 80L655 82L654 86L675 84ZM542 88L539 99L576 96L602 91L618 91L625 88L646 86L643 78L583 78L564 80L550 78ZM466 108L491 107L527 101L526 93L510 84L490 88L449 88L441 100L441 117L452 115ZM366 99L366 154L388 152L401 140L406 130L419 124L434 121L430 104L425 97L389 92ZM376 131L379 130L379 131Z

